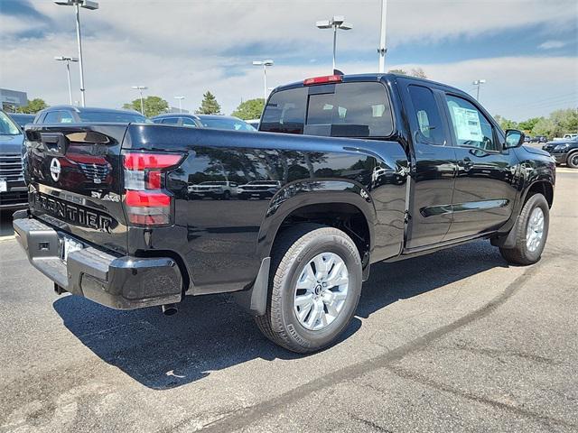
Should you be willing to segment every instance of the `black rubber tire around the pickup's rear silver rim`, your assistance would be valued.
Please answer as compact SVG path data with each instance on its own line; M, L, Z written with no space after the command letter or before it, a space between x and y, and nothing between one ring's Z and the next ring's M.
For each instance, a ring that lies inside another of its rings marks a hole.
M295 316L294 287L303 263L325 252L339 255L347 266L348 294L339 315L327 327L310 330ZM321 350L334 343L350 324L358 307L361 281L361 259L350 236L337 228L311 223L288 228L275 239L266 314L256 317L256 325L276 345L292 352Z

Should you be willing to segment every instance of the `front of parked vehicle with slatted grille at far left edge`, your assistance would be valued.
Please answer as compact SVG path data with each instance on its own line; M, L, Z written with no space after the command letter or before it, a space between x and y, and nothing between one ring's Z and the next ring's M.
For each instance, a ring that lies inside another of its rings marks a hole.
M23 176L23 132L0 110L0 210L28 206Z

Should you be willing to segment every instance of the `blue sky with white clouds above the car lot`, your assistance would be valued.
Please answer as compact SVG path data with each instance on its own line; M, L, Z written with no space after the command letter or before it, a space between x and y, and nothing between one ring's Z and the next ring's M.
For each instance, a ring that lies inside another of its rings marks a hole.
M578 106L578 1L388 0L387 69L422 68L428 78L475 96L516 121ZM268 87L331 73L330 30L344 15L337 68L378 70L380 0L100 0L80 10L87 106L121 107L145 95L194 111L210 90L225 114ZM68 104L63 62L77 56L74 8L51 0L0 0L0 88L49 105ZM71 65L79 100L78 64Z

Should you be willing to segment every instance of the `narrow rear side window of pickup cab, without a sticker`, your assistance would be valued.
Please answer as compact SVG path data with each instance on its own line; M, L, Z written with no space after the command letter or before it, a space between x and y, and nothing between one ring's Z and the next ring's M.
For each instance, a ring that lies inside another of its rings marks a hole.
M417 139L422 143L443 146L445 144L445 134L443 132L442 116L432 90L424 88L424 86L415 85L408 86L408 89L415 110Z

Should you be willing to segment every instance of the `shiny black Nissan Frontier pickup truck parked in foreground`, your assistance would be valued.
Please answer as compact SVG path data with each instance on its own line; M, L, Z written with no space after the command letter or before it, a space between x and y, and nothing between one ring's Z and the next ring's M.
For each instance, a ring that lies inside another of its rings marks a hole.
M523 142L461 90L391 74L276 88L257 133L29 125L14 229L59 293L171 314L232 292L268 338L312 352L348 326L371 263L480 238L536 263L555 162ZM204 181L270 194L190 199Z

